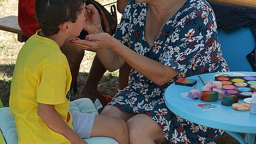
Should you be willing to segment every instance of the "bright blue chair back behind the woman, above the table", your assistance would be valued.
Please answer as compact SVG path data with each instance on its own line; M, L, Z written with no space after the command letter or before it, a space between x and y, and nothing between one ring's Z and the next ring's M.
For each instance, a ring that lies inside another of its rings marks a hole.
M249 27L241 27L233 32L225 32L218 27L218 39L220 41L223 57L230 71L252 71L246 59L246 55L255 47L254 36Z

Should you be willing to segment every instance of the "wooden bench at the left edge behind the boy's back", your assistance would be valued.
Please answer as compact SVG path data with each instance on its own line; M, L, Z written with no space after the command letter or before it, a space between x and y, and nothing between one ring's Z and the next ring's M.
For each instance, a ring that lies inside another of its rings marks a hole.
M24 42L28 38L23 34L19 23L18 23L18 16L10 15L6 17L0 18L0 30L5 30L9 32L13 32L18 34L18 41Z

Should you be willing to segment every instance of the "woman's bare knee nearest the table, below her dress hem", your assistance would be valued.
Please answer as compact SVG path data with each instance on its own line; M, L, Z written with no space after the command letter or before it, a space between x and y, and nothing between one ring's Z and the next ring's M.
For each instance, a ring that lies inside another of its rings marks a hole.
M155 144L165 142L163 129L148 115L136 114L127 122L130 144Z

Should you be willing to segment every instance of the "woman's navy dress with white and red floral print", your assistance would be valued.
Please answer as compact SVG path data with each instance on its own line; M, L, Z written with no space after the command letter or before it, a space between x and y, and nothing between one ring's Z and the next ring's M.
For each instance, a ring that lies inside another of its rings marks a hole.
M222 130L186 121L164 103L164 91L178 77L229 71L217 39L212 8L205 0L187 0L164 25L154 44L149 45L144 37L147 6L130 0L114 37L134 52L180 73L160 86L132 69L130 86L117 93L109 105L125 112L147 114L163 129L168 144L206 144L217 140Z

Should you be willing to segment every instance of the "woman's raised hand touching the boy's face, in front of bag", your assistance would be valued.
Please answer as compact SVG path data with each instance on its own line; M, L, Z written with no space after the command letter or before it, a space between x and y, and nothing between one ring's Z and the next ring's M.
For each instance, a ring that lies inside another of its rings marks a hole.
M84 30L86 30L89 34L103 32L98 10L92 4L85 6L85 9L86 20Z

